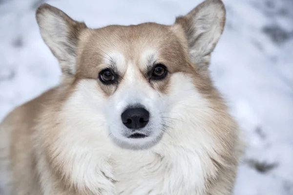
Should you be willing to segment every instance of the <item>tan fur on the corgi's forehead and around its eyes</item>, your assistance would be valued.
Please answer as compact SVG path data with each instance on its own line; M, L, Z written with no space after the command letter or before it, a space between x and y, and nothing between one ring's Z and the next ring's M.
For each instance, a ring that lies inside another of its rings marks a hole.
M142 32L146 36L141 36ZM179 34L178 36L183 37L184 35ZM112 40L111 43L107 41L109 39ZM126 48L124 46L125 43L128 45ZM140 59L144 50L152 48L160 52L161 56L158 56L157 61L168 64L170 73L190 73L192 71L191 65L179 66L179 64L185 63L188 60L188 56L186 55L187 50L185 46L180 43L180 38L173 32L173 26L144 23L132 26L115 25L95 30L85 30L80 45L79 52L81 55L77 58L78 70L76 76L79 79L96 79L98 73L106 65L101 63L103 58L109 58L107 53L112 50L123 51L122 54L127 57L127 60L133 61ZM151 56L149 58L151 59ZM141 66L140 61L134 61L134 63L138 67ZM143 66L145 65L147 64L143 64ZM145 70L140 69L140 72L141 76L147 79ZM167 80L150 84L161 92L167 90ZM115 89L103 84L101 84L101 88L107 96L115 91Z

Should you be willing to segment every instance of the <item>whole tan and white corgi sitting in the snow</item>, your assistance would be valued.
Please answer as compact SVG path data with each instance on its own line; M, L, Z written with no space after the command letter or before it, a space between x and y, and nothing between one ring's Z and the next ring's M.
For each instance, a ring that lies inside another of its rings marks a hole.
M172 25L36 19L63 75L2 121L1 195L232 194L239 127L209 74L221 0Z

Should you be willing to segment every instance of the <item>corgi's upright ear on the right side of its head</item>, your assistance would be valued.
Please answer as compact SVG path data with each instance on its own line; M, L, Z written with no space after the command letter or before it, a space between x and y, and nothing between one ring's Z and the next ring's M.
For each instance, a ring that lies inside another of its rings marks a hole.
M177 17L188 40L191 62L208 68L210 54L224 30L226 10L221 0L205 0L186 16Z

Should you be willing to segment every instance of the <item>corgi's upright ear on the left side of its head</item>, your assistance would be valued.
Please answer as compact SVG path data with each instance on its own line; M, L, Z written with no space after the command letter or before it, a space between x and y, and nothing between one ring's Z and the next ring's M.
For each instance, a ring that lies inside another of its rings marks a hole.
M37 9L36 19L42 39L59 60L63 74L74 75L79 35L86 25L49 4Z

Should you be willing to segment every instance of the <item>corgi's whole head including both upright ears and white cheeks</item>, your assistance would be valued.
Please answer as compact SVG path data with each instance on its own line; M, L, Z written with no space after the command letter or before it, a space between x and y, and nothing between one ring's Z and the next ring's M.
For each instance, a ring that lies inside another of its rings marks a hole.
M207 99L216 94L208 66L225 24L221 0L204 1L173 25L90 29L48 4L36 16L61 64L61 85L70 89L64 120L80 129L71 137L106 135L122 147L142 149L172 135L184 116L206 116Z

